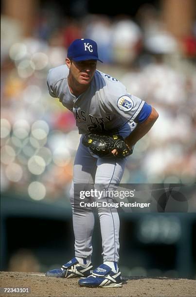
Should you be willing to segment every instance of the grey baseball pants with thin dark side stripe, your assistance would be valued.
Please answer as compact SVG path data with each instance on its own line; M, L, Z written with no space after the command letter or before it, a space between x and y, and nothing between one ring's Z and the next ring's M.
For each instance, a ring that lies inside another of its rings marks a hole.
M82 138L82 137L81 137ZM103 184L110 189L110 184L119 184L125 170L126 158L115 157L100 158L85 147L81 140L76 153L73 166L73 181L70 190L72 206L73 231L75 236L75 256L90 258L92 254L92 233L94 229L94 213L86 211L74 211L74 199L79 199L79 193L74 192L74 184L89 183ZM112 190L114 187L112 186ZM93 200L91 200L93 201ZM112 202L111 199L108 200ZM105 261L118 262L119 260L119 215L114 207L108 207L106 212L99 212L103 259Z

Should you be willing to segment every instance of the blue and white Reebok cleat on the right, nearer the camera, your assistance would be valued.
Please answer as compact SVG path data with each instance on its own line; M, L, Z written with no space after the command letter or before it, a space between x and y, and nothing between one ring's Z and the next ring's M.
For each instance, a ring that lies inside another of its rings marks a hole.
M111 268L106 264L101 264L92 274L82 280L78 281L80 286L91 288L109 288L109 287L122 287L121 272L118 268L117 272L111 271Z

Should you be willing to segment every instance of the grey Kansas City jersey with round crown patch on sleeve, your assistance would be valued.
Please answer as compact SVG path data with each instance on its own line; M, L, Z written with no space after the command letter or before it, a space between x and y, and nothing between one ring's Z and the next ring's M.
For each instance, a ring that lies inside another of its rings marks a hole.
M52 97L73 112L79 134L119 133L128 136L144 101L126 92L125 86L108 74L95 71L89 88L76 97L68 85L66 65L49 70L47 84Z

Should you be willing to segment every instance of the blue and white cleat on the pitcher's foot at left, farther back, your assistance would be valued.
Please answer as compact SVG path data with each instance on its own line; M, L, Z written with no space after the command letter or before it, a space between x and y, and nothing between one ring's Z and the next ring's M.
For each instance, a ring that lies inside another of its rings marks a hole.
M76 258L71 259L68 263L64 264L62 268L49 270L46 276L54 278L87 278L92 273L92 264L88 266L81 266Z

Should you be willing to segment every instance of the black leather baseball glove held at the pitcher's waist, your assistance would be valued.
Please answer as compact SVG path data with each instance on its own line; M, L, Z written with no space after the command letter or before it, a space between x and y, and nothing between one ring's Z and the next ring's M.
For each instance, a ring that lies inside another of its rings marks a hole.
M125 158L132 154L133 150L129 149L123 140L123 137L119 135L99 135L99 134L85 134L82 138L84 146L88 147L94 154L99 157L107 155L113 155L111 151L116 149L118 154L117 158Z

